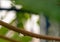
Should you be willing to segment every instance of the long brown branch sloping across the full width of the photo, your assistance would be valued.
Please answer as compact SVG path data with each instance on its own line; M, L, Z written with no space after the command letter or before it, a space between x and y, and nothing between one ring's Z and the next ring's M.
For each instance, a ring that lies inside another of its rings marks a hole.
M23 29L19 29L17 27L14 27L10 24L7 24L3 21L0 21L0 25L3 25L5 27L7 27L8 29L10 30L13 30L13 31L16 31L18 33L22 33L24 35L27 35L27 36L31 36L31 37L35 37L35 38L39 38L39 39L45 39L45 40L56 40L56 41L60 41L60 37L53 37L53 36L44 36L44 35L38 35L38 34L35 34L35 33L31 33L31 32L28 32L26 30L23 30Z

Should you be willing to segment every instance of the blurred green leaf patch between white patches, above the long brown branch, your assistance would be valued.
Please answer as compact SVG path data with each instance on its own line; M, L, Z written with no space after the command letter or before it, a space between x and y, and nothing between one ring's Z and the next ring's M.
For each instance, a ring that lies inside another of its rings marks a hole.
M23 24L30 18L29 13L18 12L16 15L18 21L17 27L23 28Z

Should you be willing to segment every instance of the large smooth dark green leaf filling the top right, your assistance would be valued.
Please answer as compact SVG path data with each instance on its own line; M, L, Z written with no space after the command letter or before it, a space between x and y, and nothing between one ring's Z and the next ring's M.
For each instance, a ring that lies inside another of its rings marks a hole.
M22 10L34 13L43 12L51 20L60 21L60 0L15 0Z

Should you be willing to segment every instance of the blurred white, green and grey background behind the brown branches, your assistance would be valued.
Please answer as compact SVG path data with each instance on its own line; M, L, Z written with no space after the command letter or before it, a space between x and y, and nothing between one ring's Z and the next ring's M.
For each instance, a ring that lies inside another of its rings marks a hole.
M10 9L13 6L17 9L21 9L21 5L14 4L15 1L11 0L0 0L0 9ZM0 20L9 23L15 27L25 29L27 31L41 34L41 35L52 35L60 36L60 24L55 21L50 21L44 13L40 15L28 13L28 12L17 12L15 10L0 10ZM21 33L14 32L6 29L6 27L0 25L0 34L8 38L21 40L22 42L59 42L54 40L43 40L29 36L24 36ZM9 42L0 38L0 42Z

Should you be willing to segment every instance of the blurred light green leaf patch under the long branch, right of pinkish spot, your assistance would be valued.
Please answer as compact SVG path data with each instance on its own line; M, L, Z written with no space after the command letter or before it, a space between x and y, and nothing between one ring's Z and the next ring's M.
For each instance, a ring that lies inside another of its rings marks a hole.
M13 39L16 39L21 42L29 42L31 41L31 37L29 36L19 36L19 33L15 33L14 36L12 37Z

